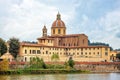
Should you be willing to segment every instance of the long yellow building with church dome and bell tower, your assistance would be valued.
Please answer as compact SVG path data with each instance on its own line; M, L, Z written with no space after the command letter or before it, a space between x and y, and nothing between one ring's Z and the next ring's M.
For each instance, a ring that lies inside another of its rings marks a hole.
M47 35L46 26L42 29L42 37L37 38L37 44L21 43L20 56L29 62L33 57L51 61L53 54L58 54L59 61L65 62L70 57L74 61L99 62L110 61L110 48L107 46L89 46L85 34L66 34L65 23L58 13L51 27L51 36Z

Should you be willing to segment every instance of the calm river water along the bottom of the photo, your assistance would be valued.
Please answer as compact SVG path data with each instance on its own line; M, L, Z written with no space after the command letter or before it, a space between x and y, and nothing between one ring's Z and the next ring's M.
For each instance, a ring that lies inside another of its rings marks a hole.
M0 75L0 80L120 80L120 73Z

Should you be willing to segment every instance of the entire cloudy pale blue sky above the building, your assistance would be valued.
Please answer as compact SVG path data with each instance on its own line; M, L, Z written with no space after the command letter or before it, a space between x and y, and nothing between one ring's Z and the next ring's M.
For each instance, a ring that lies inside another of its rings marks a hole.
M120 48L120 0L0 0L0 37L36 41L50 29L58 11L68 34Z

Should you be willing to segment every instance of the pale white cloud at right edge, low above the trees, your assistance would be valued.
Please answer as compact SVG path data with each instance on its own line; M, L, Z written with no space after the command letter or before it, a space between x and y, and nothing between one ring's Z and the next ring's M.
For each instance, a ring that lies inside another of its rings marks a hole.
M120 11L114 10L106 13L103 17L98 19L98 26L102 29L97 30L100 32L101 39L96 38L96 41L106 42L113 48L120 48ZM94 39L95 40L95 39Z

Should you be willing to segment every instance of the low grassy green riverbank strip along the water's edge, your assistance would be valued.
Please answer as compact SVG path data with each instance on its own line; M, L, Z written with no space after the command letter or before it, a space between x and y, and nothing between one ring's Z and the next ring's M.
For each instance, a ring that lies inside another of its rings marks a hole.
M82 70L50 70L50 69L29 69L29 70L9 70L0 71L0 75L12 75L12 74L67 74L67 73L90 73L89 71Z

